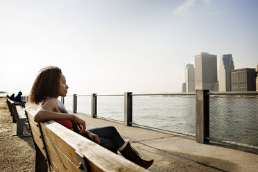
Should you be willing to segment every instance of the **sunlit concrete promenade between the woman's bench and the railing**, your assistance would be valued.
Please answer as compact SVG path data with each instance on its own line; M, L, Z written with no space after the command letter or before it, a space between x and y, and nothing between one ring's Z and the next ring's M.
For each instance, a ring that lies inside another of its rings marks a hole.
M37 108L29 103L26 106ZM142 157L155 160L149 171L258 171L257 153L219 144L198 144L187 137L76 115L86 121L87 128L115 126Z

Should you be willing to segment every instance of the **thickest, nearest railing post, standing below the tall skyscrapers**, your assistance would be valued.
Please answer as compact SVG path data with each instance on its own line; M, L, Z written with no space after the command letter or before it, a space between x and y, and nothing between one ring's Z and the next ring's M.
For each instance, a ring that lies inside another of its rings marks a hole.
M196 141L209 144L209 90L196 90Z

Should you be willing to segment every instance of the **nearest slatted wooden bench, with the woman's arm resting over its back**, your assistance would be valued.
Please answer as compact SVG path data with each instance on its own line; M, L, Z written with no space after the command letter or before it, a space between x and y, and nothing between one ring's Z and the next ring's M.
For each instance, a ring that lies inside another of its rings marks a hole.
M35 171L147 171L55 121L36 123L26 110L35 146Z

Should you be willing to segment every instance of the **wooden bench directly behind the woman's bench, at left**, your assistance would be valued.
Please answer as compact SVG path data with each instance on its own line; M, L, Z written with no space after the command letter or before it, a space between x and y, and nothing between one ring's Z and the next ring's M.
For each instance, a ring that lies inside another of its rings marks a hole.
M28 123L25 115L25 109L19 105L16 105L14 101L6 98L6 102L9 107L10 114L12 116L12 122L16 123L16 135L18 137L30 136Z

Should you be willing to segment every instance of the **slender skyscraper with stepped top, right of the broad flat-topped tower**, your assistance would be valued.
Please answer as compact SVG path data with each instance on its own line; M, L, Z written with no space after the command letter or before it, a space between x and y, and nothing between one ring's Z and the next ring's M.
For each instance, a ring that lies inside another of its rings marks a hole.
M231 91L230 70L234 69L234 62L231 54L221 55L221 64L218 69L218 90L219 92Z

